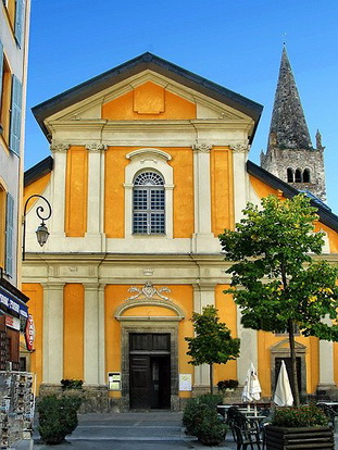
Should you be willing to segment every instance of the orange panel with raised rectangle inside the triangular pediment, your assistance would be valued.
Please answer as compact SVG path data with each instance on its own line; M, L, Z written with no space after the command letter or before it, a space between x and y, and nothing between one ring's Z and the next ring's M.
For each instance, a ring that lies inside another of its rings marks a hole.
M196 104L147 82L102 105L102 118L148 121L196 118Z

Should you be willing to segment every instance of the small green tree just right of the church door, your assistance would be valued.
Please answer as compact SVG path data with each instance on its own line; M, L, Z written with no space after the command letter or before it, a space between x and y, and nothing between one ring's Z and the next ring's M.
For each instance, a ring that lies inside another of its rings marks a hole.
M231 338L226 324L220 322L217 310L209 304L202 314L193 313L195 337L186 337L191 357L189 364L210 366L210 392L213 393L213 364L225 364L239 357L239 339Z

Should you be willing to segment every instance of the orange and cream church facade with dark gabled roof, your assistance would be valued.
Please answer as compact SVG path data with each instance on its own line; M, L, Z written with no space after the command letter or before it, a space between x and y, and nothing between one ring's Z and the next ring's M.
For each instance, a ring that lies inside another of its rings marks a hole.
M30 239L39 200L28 212L23 267L41 390L83 379L102 410L178 410L208 387L185 337L192 312L214 304L241 339L240 358L216 366L215 383L242 385L253 362L271 396L287 337L242 328L223 292L230 278L217 238L248 201L298 193L248 161L261 112L151 53L34 109L51 157L26 172L25 198L42 195L53 209L42 249ZM336 261L338 217L321 205L318 214L325 258ZM336 353L297 336L302 392L335 388Z

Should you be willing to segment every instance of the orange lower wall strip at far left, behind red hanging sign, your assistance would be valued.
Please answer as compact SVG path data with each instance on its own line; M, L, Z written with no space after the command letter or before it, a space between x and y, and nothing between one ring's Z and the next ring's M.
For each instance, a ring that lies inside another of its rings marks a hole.
M35 324L34 351L30 353L30 372L37 376L37 389L42 383L42 339L43 339L43 288L38 283L24 283L23 292L29 297L29 314L33 315Z

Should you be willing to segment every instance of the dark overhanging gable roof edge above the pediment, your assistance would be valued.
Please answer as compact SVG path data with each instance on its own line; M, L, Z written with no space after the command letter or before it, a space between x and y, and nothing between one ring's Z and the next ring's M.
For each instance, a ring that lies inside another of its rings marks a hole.
M166 76L176 83L247 114L255 123L250 139L252 140L263 110L261 104L149 52L142 53L101 75L59 93L34 107L32 111L45 135L49 138L48 130L43 124L47 117L146 70Z

